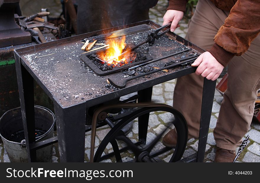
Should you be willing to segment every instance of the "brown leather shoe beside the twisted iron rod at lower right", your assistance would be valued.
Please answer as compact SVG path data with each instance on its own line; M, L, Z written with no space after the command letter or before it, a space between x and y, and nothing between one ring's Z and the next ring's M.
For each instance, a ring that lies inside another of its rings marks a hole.
M223 162L233 162L236 156L235 151L217 148L215 162L223 163Z

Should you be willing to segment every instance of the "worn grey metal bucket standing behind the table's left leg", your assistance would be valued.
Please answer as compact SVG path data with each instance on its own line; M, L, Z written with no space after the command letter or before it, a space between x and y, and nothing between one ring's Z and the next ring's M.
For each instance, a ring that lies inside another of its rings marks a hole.
M53 137L53 127L55 116L51 110L36 106L35 110L35 129L45 133L36 137L36 141L42 141ZM21 107L6 111L0 118L0 136L4 143L4 148L11 162L28 162L25 140L21 142L10 141L11 135L23 130ZM52 145L38 149L38 162L52 161Z

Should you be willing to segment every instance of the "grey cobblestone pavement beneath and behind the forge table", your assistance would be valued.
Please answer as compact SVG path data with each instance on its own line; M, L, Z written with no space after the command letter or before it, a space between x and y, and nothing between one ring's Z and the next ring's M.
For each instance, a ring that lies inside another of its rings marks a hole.
M160 24L163 23L163 15L165 13L167 7L167 0L159 0L158 5L150 10L150 19L158 22ZM182 20L180 22L180 28L177 28L175 33L185 37L187 33L187 20ZM218 82L220 79L218 79ZM152 102L154 103L164 103L171 105L173 104L173 90L176 84L176 79L156 85L153 87L152 93ZM220 104L222 102L223 97L221 94L216 91L213 108L212 108L212 115L210 120L209 126L209 134L206 146L206 154L205 154L205 162L213 162L215 158L215 151L216 151L216 143L213 136L213 130L216 126L217 117L220 110ZM151 142L152 139L156 137L162 130L166 128L166 124L170 122L172 116L167 112L151 112L149 118L149 127L147 133L147 143ZM101 140L105 137L108 133L110 128L108 126L104 126L102 128L98 128L97 130L97 138L95 141L95 150L97 149L98 145L100 144ZM246 149L241 153L240 157L238 158L238 162L260 162L260 124L252 123L251 128L248 131L250 135L250 142ZM247 134L246 134L247 135ZM245 137L246 137L245 135ZM138 139L138 121L134 121L134 126L132 131L127 135L133 142L136 142ZM124 143L120 143L120 147L124 147ZM163 148L163 144L158 142L154 148L154 151ZM183 154L183 157L187 157L197 151L198 148L198 140L197 139L190 139L187 143L186 151ZM108 144L105 149L105 153L112 152L112 146ZM165 162L170 160L170 157L173 153L172 151L168 151L163 153L159 156L159 158ZM9 158L6 154L6 151L3 147L3 144L0 143L0 162L9 162ZM133 160L134 156L131 151L126 151L121 153L123 157L123 161L130 161ZM90 132L86 133L85 137L85 161L89 161L90 156ZM53 146L53 162L59 162L59 155L58 155L58 146L55 144ZM107 159L104 162L115 162L115 158Z

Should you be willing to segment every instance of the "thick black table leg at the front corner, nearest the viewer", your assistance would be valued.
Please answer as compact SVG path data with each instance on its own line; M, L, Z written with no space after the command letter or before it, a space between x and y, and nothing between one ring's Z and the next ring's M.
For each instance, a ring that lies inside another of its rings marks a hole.
M60 162L84 162L86 105L54 104Z

